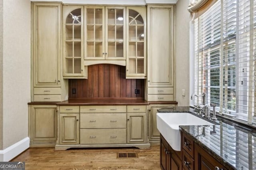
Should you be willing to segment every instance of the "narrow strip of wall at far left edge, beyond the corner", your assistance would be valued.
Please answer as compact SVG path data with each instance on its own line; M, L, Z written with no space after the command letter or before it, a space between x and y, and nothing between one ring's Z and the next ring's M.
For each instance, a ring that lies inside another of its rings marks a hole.
M3 149L3 1L0 0L0 150Z

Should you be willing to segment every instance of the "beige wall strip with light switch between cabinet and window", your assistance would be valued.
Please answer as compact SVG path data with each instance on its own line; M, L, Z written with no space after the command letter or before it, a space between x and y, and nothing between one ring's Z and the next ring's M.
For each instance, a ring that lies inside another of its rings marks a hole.
M189 105L189 0L176 4L176 100L178 106ZM182 96L185 89L185 97Z

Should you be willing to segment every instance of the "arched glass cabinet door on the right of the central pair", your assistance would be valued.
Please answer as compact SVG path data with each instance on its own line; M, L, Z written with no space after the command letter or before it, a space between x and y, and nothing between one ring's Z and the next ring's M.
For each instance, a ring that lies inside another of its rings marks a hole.
M146 78L146 8L130 7L127 12L126 78Z

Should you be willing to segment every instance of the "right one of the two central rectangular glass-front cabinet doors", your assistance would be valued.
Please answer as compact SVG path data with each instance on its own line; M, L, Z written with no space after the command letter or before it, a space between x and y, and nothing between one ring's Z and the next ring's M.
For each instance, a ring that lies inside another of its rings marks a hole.
M125 7L106 7L106 59L125 59Z

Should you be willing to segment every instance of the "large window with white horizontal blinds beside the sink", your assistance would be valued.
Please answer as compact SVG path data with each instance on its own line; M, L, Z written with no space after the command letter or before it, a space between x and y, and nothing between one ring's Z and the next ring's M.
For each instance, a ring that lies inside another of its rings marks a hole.
M224 116L256 123L256 0L218 0L193 32L194 93Z

